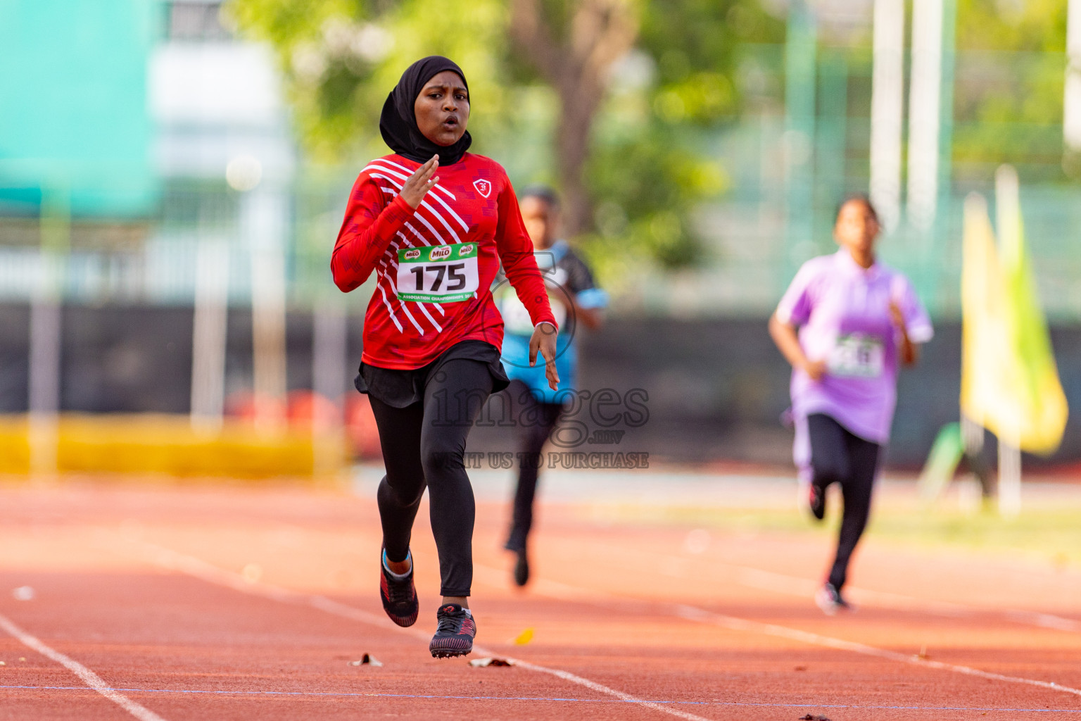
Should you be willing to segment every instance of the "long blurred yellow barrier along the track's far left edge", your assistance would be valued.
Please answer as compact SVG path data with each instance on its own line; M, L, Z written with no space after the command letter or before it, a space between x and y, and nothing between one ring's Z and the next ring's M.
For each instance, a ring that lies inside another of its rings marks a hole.
M59 473L241 479L331 477L350 458L344 433L261 431L246 422L205 432L187 415L72 413L31 431L25 415L0 416L0 473L42 470L42 455Z

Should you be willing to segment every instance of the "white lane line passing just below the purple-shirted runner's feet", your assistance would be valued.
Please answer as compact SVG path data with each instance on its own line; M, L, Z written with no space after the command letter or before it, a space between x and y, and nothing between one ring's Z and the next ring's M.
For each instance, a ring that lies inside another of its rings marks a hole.
M480 572L480 574L477 574L478 571ZM506 575L505 573L501 573L495 569L478 565L476 563L473 564L473 573L477 575L483 574L484 580L488 583L492 583L492 578L495 574L498 574L501 577ZM686 620L721 626L723 628L728 628L729 630L763 633L765 636L774 636L778 638L788 639L791 641L799 641L801 643L809 643L811 645L825 646L827 649L851 651L853 653L859 653L867 656L877 656L879 658L886 658L890 660L896 660L904 664L911 664L915 666L934 668L944 671L953 671L957 673L963 673L965 676L975 676L983 679L988 679L990 681L1005 681L1007 683L1020 683L1024 685L1039 686L1041 689L1049 689L1051 691L1062 691L1063 693L1073 694L1075 696L1081 696L1081 689L1064 686L1059 683L1055 683L1054 681L1039 681L1036 679L1026 679L1018 676L1005 676L1003 673L995 673L991 671L984 671L978 668L972 668L971 666L960 666L957 664L947 664L940 660L920 658L919 656L903 654L896 651L889 651L886 649L879 649L876 646L867 645L865 643L858 643L856 641L845 641L844 639L837 639L831 636L823 636L822 633L802 631L798 628L789 628L788 626L768 624L760 620L748 620L746 618L737 618L735 616L728 616L720 613L713 613L712 611L706 611L704 609L698 609L692 605L651 602L631 597L617 596L615 593L591 591L587 588L571 586L569 584L562 584L556 580L548 580L548 579L537 579L535 582L533 591L538 596L547 596L548 598L559 599L562 601L576 601L578 603L588 603L590 605L597 605L610 611L618 609L620 603L633 604L635 606L637 606L638 610L644 610L646 607L652 607L654 610L667 610L669 615L678 616ZM627 607L624 607L622 610L630 611Z

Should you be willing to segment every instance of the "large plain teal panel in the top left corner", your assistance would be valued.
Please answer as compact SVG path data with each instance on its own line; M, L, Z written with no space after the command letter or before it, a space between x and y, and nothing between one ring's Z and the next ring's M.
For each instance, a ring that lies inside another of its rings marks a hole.
M0 0L0 214L41 198L139 217L158 199L147 59L156 0Z

